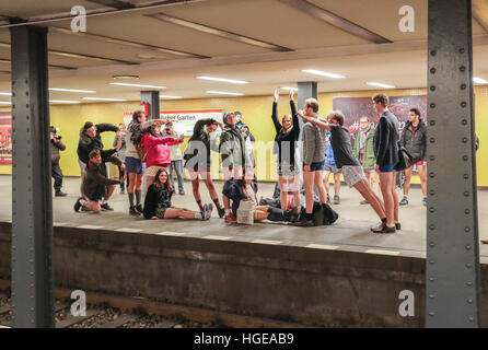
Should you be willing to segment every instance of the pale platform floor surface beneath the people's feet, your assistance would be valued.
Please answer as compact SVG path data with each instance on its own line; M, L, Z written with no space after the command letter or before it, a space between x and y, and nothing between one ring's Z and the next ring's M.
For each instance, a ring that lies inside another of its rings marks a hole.
M128 214L127 195L120 195L118 189L109 200L115 209L113 212L101 214L75 213L73 203L79 196L79 178L65 178L63 191L68 197L54 198L55 225L83 226L86 229L108 229L133 233L153 233L163 235L178 235L202 237L209 240L225 240L253 242L258 244L284 244L310 246L323 249L341 249L362 253L384 253L390 255L408 255L423 257L426 250L426 207L421 205L420 188L411 188L409 206L400 207L402 231L396 234L377 235L369 230L377 223L373 210L369 206L360 206L359 194L341 187L341 202L333 208L339 213L338 221L330 226L297 228L278 223L256 223L253 226L226 224L213 212L210 221L187 220L143 220ZM205 185L200 192L204 202L210 202ZM222 183L216 183L221 194ZM191 195L191 186L185 183L186 196L174 196L175 207L191 210L197 205ZM260 184L258 198L271 197L274 184ZM332 189L330 189L332 190ZM11 221L11 176L0 176L0 221ZM479 236L488 240L488 191L478 191L479 203ZM380 250L380 252L376 252ZM480 245L481 256L488 256L488 245Z

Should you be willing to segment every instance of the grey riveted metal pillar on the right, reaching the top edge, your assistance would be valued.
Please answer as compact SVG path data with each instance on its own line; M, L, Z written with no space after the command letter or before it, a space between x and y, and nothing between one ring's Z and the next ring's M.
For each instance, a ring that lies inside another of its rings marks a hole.
M479 327L470 0L429 0L428 327Z

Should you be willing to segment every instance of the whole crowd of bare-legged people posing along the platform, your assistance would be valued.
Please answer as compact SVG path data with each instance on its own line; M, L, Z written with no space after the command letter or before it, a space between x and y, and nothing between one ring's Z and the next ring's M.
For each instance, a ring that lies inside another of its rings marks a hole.
M188 144L182 152L184 136L178 136L167 120L147 120L141 110L132 115L127 126L120 124L97 124L86 121L80 130L78 158L81 171L81 196L74 210L100 212L113 210L108 199L115 187L120 194L127 188L129 213L146 219L198 219L209 220L213 209L225 222L236 221L240 203L251 201L255 221L288 221L304 226L314 225L315 208L329 208L329 174L334 174L334 203L339 203L340 174L347 185L356 188L363 197L363 205L370 205L381 223L372 228L375 233L393 233L400 230L398 206L408 203L411 168L406 170L405 196L398 200L395 191L395 166L398 163L398 148L407 148L414 156L422 180L426 196L426 124L417 108L410 109L405 129L398 132L398 119L388 110L388 97L377 94L372 105L380 115L374 128L368 117L361 117L360 131L351 145L349 130L344 127L345 116L335 110L321 118L315 98L305 101L298 110L290 92L291 114L278 117L279 93L275 91L271 120L275 127L275 148L280 188L280 208L259 206L257 178L254 174L254 137L241 120L240 113L225 113L223 122L216 119L200 119L196 122ZM301 120L302 119L302 122ZM105 150L101 135L115 132L113 149ZM51 130L53 176L56 196L61 191L62 173L59 167L59 150L65 145L56 129ZM224 186L219 194L210 176L211 152L221 155ZM107 177L106 163L119 168L119 178ZM174 208L172 196L185 195L183 168L191 182L193 195L198 210ZM173 172L176 173L176 191ZM142 179L147 175L144 202L142 206ZM374 186L380 177L383 198ZM199 191L200 180L206 185L212 202L202 203ZM303 189L303 190L302 190ZM304 199L301 195L304 192ZM291 198L290 198L291 197ZM291 199L291 200L290 200ZM291 203L291 205L290 205ZM302 206L303 205L303 206Z

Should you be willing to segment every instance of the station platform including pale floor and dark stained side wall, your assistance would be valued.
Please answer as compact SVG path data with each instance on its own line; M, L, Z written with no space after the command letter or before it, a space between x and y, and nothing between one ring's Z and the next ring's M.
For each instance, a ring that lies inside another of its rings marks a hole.
M11 185L0 176L0 279L10 279ZM221 189L222 184L216 184ZM174 205L196 209L186 196ZM127 213L127 195L114 194L113 212L75 213L79 179L66 178L66 198L54 203L55 284L319 327L422 327L425 325L425 221L419 188L400 208L403 230L376 235L371 208L341 189L330 226L278 223L143 220ZM272 184L262 184L269 197ZM204 199L208 192L202 188ZM479 191L480 238L488 192ZM488 250L480 246L481 314L488 316ZM398 295L413 291L415 316L398 315ZM90 303L90 301L89 301ZM485 306L486 305L486 306ZM488 319L488 317L483 317ZM488 324L484 324L488 326Z

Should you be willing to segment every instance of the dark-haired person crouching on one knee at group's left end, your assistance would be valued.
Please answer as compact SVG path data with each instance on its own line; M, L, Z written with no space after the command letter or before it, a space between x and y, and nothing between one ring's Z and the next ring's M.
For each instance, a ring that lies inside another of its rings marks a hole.
M120 170L126 173L126 165L116 155L111 155L108 159L113 164L120 166ZM115 186L124 184L126 180L126 174L119 179L109 179L105 176L105 172L102 170L105 166L102 162L102 154L100 150L92 150L89 155L89 162L86 164L86 176L83 182L83 194L86 197L78 198L74 203L74 211L79 211L81 207L84 207L89 211L98 213L102 209L107 207L107 200L114 192ZM105 206L104 206L105 205ZM109 208L109 207L108 207ZM107 209L105 209L107 210ZM109 208L108 210L113 210Z

